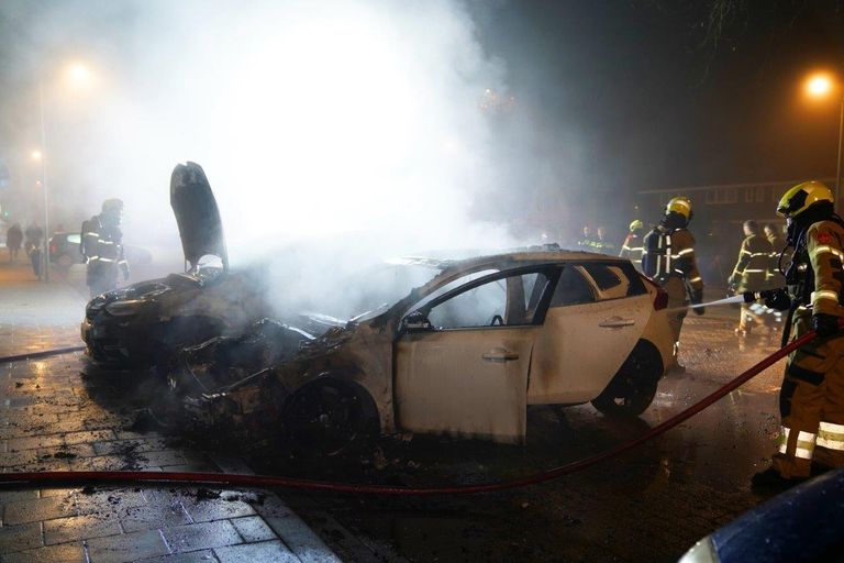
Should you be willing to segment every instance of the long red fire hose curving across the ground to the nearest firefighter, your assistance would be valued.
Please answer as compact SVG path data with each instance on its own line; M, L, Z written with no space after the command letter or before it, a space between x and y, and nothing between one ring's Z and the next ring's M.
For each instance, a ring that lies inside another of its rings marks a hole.
M655 426L644 434L621 443L603 452L577 460L558 467L546 470L524 477L517 477L507 481L498 481L491 483L481 483L475 485L456 485L447 487L399 487L399 486L386 486L386 485L371 485L371 484L353 484L353 483L340 483L340 482L325 482L325 481L312 481L301 479L295 477L286 477L278 475L244 475L244 474L220 474L220 473L195 473L195 472L144 472L144 471L55 471L55 472L27 472L27 473L3 473L0 474L0 486L21 486L21 485L40 485L48 484L91 484L91 483L109 483L109 484L137 484L137 483L153 483L153 484L191 484L203 485L212 487L258 487L258 488L298 488L306 490L321 490L333 493L349 493L349 494L369 494L369 495L398 495L398 496L435 496L435 495L469 495L478 493L491 493L496 490L506 490L518 487L525 487L529 485L536 485L545 483L547 481L556 479L564 475L586 470L592 465L615 457L624 452L628 452L653 438L670 430L671 428L680 424L681 422L693 417L703 409L710 407L719 399L723 398L728 394L732 393L741 385L747 383L749 379L758 375L764 369L770 367L782 357L787 356L796 349L810 342L815 338L815 332L810 331L799 339L791 341L786 346L781 347L777 352L762 360L759 363L746 369L741 375L735 377L726 385L714 390L703 399L699 400L691 407L687 408L669 418L668 420ZM53 351L56 353L67 353L70 351L77 351L78 349L65 349L64 352ZM49 352L41 352L37 354L48 355ZM23 355L23 357L32 357L32 354ZM19 357L19 356L11 356ZM1 362L10 361L9 358L0 358Z

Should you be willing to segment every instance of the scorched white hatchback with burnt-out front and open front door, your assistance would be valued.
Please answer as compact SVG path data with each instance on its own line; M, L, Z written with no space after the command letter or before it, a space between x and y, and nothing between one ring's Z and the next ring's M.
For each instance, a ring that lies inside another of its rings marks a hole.
M322 334L265 322L186 349L170 379L200 427L332 452L379 432L519 443L529 405L637 416L675 362L666 295L626 260L506 252L407 291Z

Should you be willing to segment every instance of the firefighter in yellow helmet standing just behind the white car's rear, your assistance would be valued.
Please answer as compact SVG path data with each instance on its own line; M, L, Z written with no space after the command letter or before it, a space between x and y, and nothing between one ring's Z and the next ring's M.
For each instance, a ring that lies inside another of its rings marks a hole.
M695 260L695 238L686 229L691 221L691 200L685 196L671 198L665 207L665 214L654 229L645 235L642 269L648 277L663 286L668 294L668 323L674 333L674 358L680 344L680 329L686 318L687 296L692 305L703 302L703 280ZM703 314L702 307L693 311ZM677 363L674 368L684 371Z

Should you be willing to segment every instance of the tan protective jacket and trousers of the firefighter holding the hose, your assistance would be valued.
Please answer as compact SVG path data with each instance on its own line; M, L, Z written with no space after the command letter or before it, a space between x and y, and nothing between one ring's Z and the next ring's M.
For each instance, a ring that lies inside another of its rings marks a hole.
M811 329L813 313L844 317L844 223L818 221L799 238L786 282L790 335ZM773 465L784 477L807 477L812 461L844 466L844 332L815 338L793 352L780 390L782 428Z

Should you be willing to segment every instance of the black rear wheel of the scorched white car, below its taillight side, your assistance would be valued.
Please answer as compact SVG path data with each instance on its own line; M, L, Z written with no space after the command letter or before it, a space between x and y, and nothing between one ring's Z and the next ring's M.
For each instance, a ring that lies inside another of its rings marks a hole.
M659 352L640 341L592 406L609 417L638 417L653 402L662 375Z

